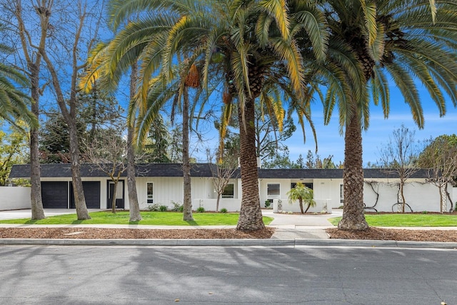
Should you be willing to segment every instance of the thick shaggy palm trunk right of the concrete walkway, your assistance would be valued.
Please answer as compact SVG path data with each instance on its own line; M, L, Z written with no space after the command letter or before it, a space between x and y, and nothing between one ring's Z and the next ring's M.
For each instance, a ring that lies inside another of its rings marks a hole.
M338 224L341 230L368 229L363 208L363 167L361 118L357 115L346 125L344 136L343 171L343 219Z

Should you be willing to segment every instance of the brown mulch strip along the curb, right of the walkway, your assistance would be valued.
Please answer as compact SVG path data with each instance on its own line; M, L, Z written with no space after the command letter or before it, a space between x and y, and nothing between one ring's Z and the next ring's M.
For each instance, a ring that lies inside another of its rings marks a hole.
M331 239L373 239L381 241L457 242L457 230L408 230L368 228L366 231L326 229Z

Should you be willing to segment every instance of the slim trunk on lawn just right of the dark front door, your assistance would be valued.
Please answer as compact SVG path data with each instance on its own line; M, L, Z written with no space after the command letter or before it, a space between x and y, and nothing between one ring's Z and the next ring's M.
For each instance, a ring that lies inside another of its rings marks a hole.
M130 75L130 101L133 101L135 96L136 73L138 66L131 66ZM140 221L140 206L138 203L138 194L136 192L136 177L135 177L135 150L134 150L134 121L128 124L127 127L127 187L129 189L129 209L130 221Z

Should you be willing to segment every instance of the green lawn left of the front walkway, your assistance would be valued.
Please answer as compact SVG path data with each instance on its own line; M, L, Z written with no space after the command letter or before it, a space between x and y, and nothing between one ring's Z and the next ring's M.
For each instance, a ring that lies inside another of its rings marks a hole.
M184 221L180 212L141 212L141 221L129 221L129 211L98 211L89 213L92 219L77 220L76 214L50 216L46 219L7 219L0 224L146 224L153 226L235 226L238 214L234 213L194 213L194 221ZM263 216L263 222L270 224L273 218Z

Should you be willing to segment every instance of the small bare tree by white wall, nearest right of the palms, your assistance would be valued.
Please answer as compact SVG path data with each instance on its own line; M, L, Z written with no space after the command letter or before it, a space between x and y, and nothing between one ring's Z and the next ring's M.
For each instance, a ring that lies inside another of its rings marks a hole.
M384 144L379 151L381 168L388 172L398 174L398 202L401 202L402 212L405 212L406 199L404 186L406 181L418 171L416 160L419 147L414 139L415 131L408 129L403 124L389 137L388 143Z

